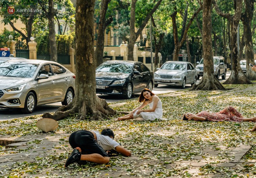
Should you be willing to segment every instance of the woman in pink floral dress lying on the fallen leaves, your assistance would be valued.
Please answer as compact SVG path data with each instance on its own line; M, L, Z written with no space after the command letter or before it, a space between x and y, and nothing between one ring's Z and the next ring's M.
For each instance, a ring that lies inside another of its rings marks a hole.
M221 122L221 121L255 122L256 116L245 118L234 107L229 106L221 110L220 112L202 111L202 112L199 112L198 114L187 113L183 115L183 120L191 120L191 119L196 121L212 121L212 122ZM253 132L253 130L251 130L251 132Z

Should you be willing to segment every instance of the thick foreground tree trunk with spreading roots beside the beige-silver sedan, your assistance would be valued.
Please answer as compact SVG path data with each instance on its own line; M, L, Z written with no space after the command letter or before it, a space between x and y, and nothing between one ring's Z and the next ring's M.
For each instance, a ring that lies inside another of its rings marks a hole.
M106 100L95 95L94 5L95 0L77 0L76 2L76 96L69 105L60 107L54 115L43 114L43 118L60 120L70 114L78 113L76 119L86 119L86 116L90 114L90 120L100 120L102 117L109 119L107 115L116 114L116 111L108 106Z

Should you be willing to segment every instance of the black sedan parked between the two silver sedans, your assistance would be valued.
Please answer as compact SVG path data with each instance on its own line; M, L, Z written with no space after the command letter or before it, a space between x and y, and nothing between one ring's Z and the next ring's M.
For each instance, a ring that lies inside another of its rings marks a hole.
M143 88L152 90L154 74L136 61L106 61L96 69L96 93L131 98Z

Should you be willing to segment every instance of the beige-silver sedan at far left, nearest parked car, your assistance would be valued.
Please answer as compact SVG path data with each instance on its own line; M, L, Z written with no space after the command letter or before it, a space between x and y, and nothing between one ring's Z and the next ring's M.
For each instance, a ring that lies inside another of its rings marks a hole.
M76 76L59 63L13 59L0 64L0 107L32 113L37 105L74 98Z

